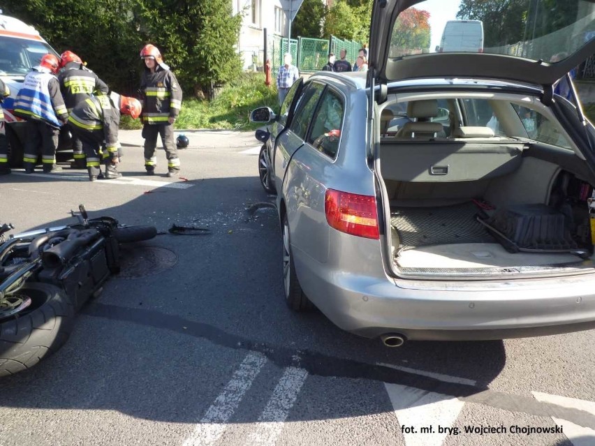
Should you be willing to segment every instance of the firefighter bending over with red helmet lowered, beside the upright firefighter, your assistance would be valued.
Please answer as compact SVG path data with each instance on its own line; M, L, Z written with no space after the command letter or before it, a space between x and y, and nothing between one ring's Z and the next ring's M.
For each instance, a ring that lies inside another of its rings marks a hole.
M136 119L141 110L138 99L121 96L113 91L107 96L91 96L73 108L68 123L71 124L73 133L82 141L90 181L95 181L101 174L101 158L105 164L105 179L122 177L117 170L122 157L118 142L120 113L129 114L132 119ZM103 156L100 154L102 144L105 144Z

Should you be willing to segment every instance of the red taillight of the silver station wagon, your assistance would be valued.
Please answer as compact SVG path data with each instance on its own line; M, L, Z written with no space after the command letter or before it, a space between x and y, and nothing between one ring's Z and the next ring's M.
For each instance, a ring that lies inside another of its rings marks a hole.
M328 224L341 232L379 239L376 198L328 189L325 194L324 211Z

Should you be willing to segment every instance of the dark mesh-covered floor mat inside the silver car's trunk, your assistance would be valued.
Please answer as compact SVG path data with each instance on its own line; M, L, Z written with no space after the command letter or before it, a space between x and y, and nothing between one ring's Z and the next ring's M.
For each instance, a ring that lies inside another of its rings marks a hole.
M392 209L390 224L399 233L401 249L416 246L494 243L494 238L476 221L473 202L460 205Z

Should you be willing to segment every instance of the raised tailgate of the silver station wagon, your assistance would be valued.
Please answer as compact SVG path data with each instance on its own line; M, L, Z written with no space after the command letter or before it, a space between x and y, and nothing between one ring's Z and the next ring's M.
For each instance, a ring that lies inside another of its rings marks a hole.
M449 20L481 20L483 52L432 52ZM369 68L382 83L471 77L547 90L595 54L593 31L592 0L374 1Z

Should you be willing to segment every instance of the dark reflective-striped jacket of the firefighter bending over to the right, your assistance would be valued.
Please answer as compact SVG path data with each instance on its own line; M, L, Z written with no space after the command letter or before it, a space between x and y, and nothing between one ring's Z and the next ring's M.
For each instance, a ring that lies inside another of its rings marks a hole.
M119 149L120 111L110 96L85 99L73 108L68 122L75 133L87 133L98 142L105 141L108 151L117 152Z

